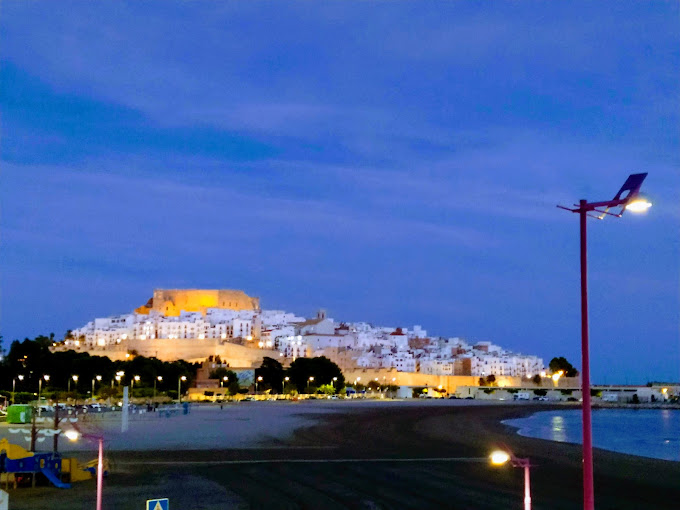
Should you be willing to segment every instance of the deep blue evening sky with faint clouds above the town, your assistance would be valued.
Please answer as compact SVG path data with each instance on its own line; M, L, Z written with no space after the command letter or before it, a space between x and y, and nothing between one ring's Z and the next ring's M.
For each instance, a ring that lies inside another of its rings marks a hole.
M680 379L677 2L27 2L0 11L1 330L154 288Z

